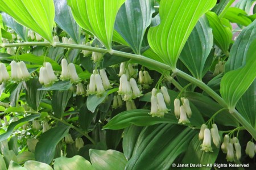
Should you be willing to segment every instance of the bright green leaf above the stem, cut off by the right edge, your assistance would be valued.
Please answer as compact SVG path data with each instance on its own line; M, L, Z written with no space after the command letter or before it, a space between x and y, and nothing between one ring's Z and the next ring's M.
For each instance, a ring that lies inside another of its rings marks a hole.
M256 41L254 40L247 51L246 64L240 69L229 71L221 79L220 94L228 104L230 111L236 107L238 100L245 94L256 78L256 59L254 56Z

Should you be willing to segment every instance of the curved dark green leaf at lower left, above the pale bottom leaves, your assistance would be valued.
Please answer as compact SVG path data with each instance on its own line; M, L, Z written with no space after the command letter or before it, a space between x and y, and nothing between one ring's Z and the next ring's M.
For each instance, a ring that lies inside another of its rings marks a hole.
M43 133L35 148L35 159L42 163L51 163L57 144L68 134L69 128L69 126L60 125Z

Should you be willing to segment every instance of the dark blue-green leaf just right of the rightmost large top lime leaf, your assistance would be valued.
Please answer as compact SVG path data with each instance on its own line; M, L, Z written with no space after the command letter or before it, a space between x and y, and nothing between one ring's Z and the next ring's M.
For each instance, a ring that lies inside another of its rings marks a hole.
M212 29L205 16L199 19L180 54L180 60L197 79L202 79L208 69L207 59L213 46ZM210 62L212 63L212 62Z

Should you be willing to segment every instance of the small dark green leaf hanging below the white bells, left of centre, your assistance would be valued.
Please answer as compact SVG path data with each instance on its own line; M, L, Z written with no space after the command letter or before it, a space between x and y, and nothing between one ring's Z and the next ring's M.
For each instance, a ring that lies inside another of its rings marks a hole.
M54 116L57 118L62 118L65 108L68 104L68 100L72 97L73 92L66 91L53 91L52 94L52 110L54 112Z

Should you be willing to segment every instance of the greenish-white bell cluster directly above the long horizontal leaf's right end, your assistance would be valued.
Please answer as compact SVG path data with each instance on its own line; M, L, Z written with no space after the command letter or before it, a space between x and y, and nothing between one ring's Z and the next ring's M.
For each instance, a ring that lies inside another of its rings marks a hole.
M181 97L182 105L180 105L180 100L174 100L174 114L176 118L179 119L179 124L187 124L190 121L187 116L190 118L192 116L192 111L189 105L189 101L187 98Z

